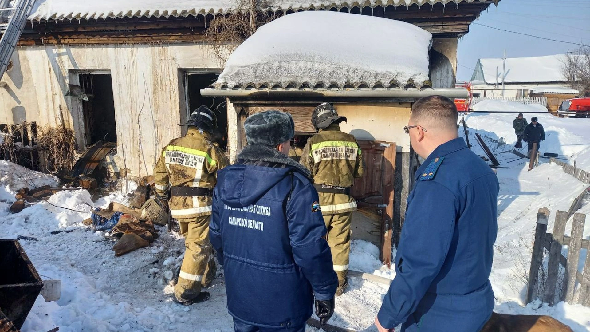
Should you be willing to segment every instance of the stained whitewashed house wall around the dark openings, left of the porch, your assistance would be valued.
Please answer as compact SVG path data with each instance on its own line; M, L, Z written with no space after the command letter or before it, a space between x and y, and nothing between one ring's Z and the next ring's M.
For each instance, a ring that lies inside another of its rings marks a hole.
M198 44L19 47L0 88L0 124L63 122L81 132L77 100L65 96L70 70L109 70L117 122L117 156L133 175L151 174L160 149L181 135L179 69L215 69ZM78 143L81 143L78 140ZM123 156L124 154L124 156Z

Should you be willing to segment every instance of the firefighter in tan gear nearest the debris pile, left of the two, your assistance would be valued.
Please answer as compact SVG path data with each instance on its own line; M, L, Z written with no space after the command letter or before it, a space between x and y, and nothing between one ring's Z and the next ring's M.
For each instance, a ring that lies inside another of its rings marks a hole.
M185 237L185 256L172 300L191 305L209 299L209 292L201 289L211 284L217 272L209 242L209 220L217 171L229 162L211 142L217 129L212 110L199 107L184 125L188 126L186 136L173 139L162 149L154 175L160 199L170 187L169 209Z

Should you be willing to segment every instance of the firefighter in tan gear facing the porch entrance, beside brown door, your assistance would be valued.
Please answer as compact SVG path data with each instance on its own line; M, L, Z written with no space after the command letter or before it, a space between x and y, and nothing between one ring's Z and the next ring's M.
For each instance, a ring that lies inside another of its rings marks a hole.
M332 250L334 271L338 275L336 296L348 286L350 222L356 201L350 197L355 178L362 177L365 162L354 136L340 131L338 116L329 103L317 106L312 124L318 134L307 140L301 153L301 164L312 172L314 186L327 227L327 241Z

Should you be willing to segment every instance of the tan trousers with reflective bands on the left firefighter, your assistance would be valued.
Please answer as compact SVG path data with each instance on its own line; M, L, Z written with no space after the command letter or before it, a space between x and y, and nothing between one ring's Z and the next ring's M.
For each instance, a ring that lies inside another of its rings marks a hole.
M180 301L192 300L202 287L207 287L215 279L217 266L209 242L210 220L211 216L178 219L186 246L181 273L174 287L174 295Z

